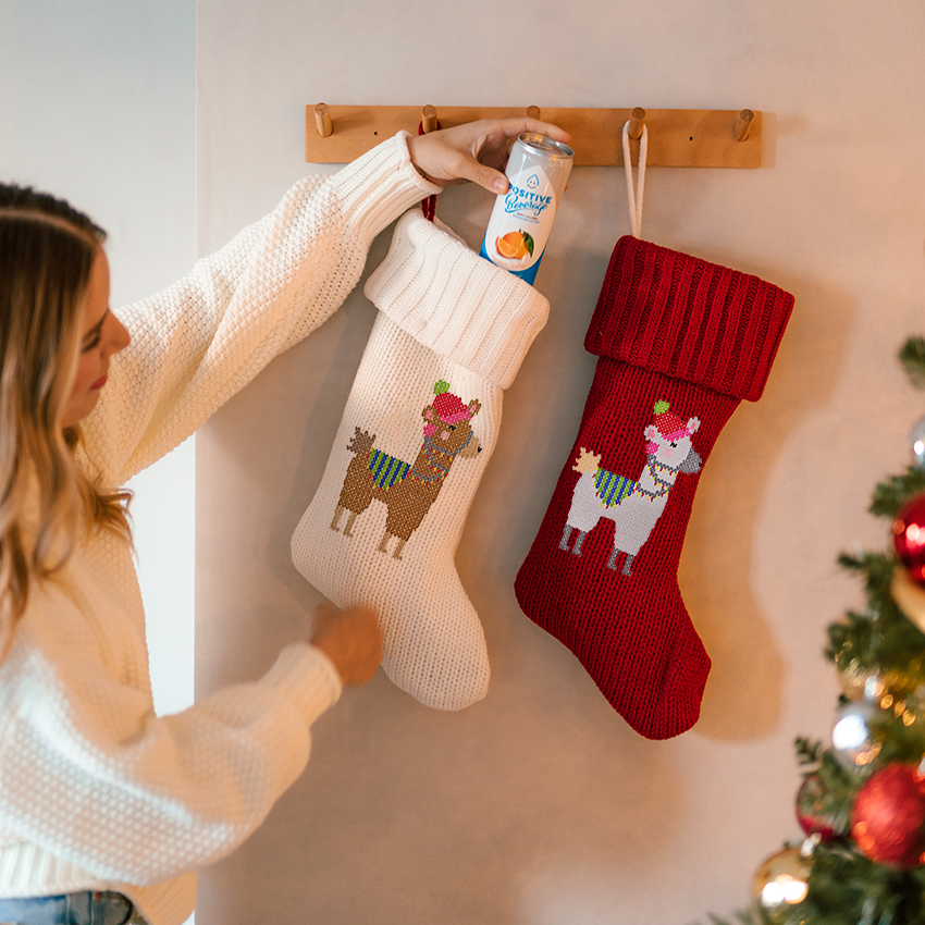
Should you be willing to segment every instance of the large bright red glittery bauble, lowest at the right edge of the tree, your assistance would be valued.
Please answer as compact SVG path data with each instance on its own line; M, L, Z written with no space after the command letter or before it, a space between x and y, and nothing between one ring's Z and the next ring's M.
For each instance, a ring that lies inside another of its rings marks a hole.
M890 764L858 791L851 835L877 864L915 867L925 852L925 779L914 764Z

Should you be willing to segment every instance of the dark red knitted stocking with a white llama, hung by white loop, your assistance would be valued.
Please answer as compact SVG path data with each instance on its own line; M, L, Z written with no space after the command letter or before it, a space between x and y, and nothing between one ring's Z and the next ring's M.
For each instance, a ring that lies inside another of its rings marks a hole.
M610 258L584 341L600 357L575 446L515 582L641 735L700 715L710 657L677 582L698 473L757 400L793 298L633 237Z

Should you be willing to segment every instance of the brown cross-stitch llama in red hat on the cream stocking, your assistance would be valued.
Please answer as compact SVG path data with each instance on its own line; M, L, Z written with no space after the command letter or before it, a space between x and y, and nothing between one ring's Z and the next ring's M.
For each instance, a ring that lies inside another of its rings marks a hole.
M347 449L356 455L347 467L331 521L331 529L340 532L341 515L349 510L344 535L353 536L350 531L357 517L373 498L381 501L388 508L388 514L385 532L377 550L387 553L388 540L397 539L392 556L399 562L405 543L436 501L454 460L460 456L471 459L482 452L471 425L472 418L482 407L481 403L473 398L465 405L449 392L448 383L443 380L434 385L433 391L436 396L433 404L421 411L424 419L423 445L410 465L373 448L375 435L370 436L367 431L354 428Z

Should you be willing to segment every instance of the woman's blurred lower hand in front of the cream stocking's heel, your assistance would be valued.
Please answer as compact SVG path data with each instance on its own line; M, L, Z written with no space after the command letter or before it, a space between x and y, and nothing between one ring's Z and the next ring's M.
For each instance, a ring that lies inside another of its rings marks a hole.
M382 630L368 607L338 610L330 601L321 604L314 610L310 641L334 663L345 684L365 684L382 661Z

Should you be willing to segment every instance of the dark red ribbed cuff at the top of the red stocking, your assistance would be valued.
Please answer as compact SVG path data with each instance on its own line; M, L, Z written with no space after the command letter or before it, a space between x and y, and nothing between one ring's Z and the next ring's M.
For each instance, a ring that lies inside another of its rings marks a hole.
M757 276L626 236L584 348L756 402L793 296Z

